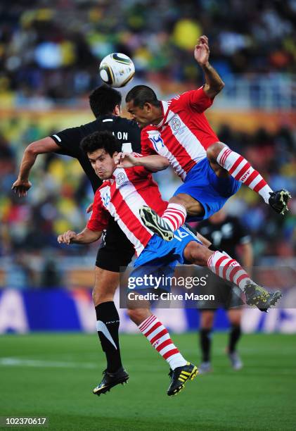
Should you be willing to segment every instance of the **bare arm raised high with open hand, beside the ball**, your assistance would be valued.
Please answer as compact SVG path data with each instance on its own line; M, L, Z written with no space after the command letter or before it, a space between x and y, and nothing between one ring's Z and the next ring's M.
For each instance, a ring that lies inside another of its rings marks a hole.
M218 73L209 63L210 48L207 36L203 35L198 39L198 44L194 49L194 58L205 73L204 91L211 99L216 96L224 87L224 82Z

